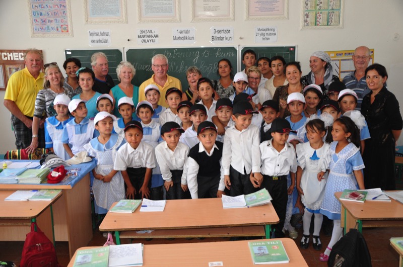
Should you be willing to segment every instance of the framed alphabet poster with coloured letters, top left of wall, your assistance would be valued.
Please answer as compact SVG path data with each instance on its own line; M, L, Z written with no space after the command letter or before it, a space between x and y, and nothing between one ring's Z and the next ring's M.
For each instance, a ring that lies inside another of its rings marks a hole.
M32 37L72 37L70 0L27 0Z

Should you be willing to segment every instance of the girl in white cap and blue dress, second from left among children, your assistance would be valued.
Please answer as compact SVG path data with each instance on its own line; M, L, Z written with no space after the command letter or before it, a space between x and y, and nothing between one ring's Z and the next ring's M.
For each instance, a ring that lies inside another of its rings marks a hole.
M69 103L69 111L74 120L64 125L61 142L70 157L84 151L84 145L94 138L94 121L87 118L88 110L81 99L73 99Z

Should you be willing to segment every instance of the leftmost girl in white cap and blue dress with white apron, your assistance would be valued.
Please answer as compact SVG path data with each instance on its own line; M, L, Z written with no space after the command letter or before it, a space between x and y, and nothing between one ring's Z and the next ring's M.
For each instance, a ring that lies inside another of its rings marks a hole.
M72 116L69 113L70 98L64 94L57 95L53 100L53 108L57 115L46 118L45 120L45 147L55 153L61 159L69 159L61 142L63 127L68 123Z

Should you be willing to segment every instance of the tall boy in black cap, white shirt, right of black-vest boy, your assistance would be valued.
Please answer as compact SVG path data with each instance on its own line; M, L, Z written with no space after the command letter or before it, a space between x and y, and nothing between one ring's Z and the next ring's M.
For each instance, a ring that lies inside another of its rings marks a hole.
M256 112L247 101L236 103L232 115L235 125L225 131L224 184L232 197L255 192L262 180L259 129L251 124L252 114ZM250 179L255 179L257 186Z

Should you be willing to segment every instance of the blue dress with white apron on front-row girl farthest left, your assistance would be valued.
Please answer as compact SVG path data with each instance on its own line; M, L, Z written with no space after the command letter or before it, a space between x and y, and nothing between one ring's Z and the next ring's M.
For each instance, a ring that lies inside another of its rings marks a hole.
M97 159L96 173L107 175L113 170L116 152L124 144L124 139L118 134L112 134L105 144L101 144L98 138L92 139L84 145L88 155ZM118 171L110 181L104 183L101 180L94 179L92 191L96 204L102 208L98 210L99 214L106 213L110 206L121 199L124 199L124 181L123 176Z

